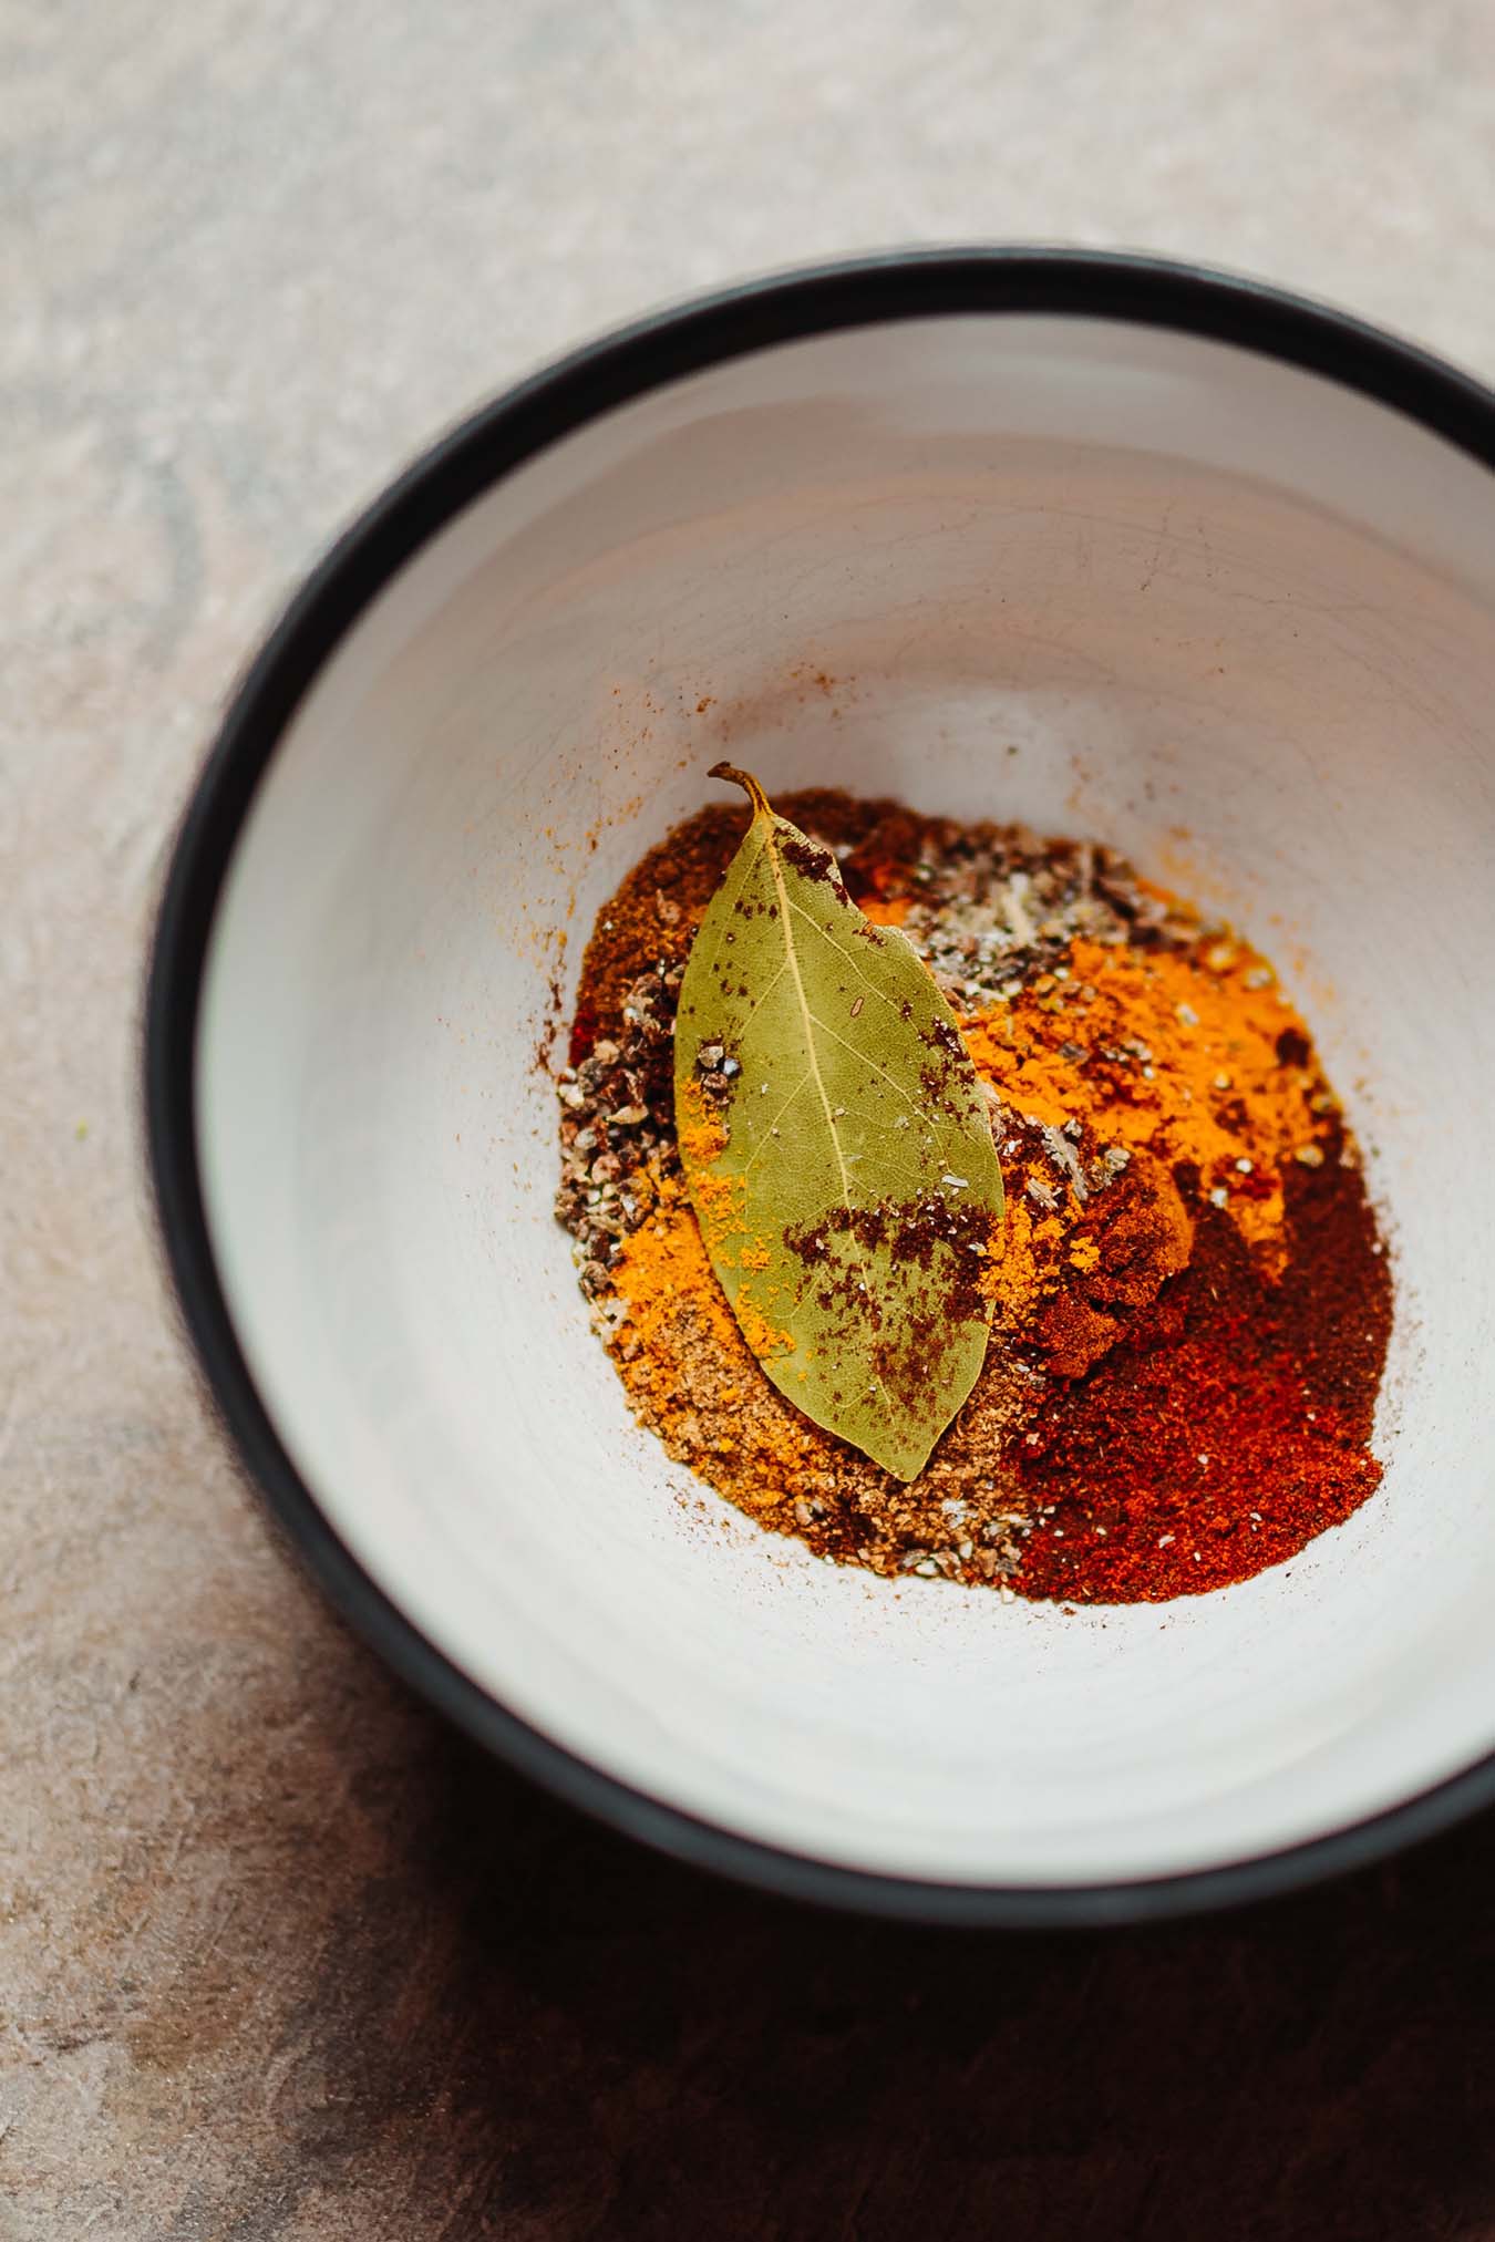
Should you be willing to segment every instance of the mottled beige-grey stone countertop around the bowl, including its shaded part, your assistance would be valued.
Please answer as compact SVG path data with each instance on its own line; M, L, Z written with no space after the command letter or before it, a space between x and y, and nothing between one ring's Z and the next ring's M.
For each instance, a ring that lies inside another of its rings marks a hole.
M271 1545L132 1103L224 691L433 428L726 276L982 235L1495 374L1491 9L0 0L0 2242L1495 2238L1495 1821L959 1942L581 1823Z

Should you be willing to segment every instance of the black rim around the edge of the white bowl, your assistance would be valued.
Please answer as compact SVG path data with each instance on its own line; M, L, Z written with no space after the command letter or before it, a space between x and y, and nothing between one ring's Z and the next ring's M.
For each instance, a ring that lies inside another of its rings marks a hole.
M195 1132L202 973L217 897L276 744L363 608L419 545L511 469L661 383L843 327L957 314L1067 314L1233 343L1378 399L1495 466L1495 395L1363 321L1257 280L1083 249L910 249L751 280L616 330L520 381L426 451L314 567L242 677L186 807L146 989L148 1159L186 1332L271 1516L365 1641L500 1760L675 1859L796 1899L1000 1928L1125 1924L1228 1908L1363 1868L1495 1800L1495 1753L1343 1829L1179 1874L977 1886L818 1861L686 1814L551 1742L464 1675L370 1578L280 1444L240 1350L208 1238Z

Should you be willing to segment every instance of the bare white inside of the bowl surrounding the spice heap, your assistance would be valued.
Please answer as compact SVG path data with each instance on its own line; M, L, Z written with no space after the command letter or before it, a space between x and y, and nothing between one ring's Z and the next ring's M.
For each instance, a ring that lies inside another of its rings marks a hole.
M256 796L197 1125L260 1392L430 1641L652 1798L935 1881L1208 1868L1488 1753L1493 594L1495 482L1412 421L1049 316L684 379L424 547ZM1278 957L1394 1240L1349 1525L1174 1605L1004 1605L818 1563L632 1426L536 1043L722 753L1105 836Z

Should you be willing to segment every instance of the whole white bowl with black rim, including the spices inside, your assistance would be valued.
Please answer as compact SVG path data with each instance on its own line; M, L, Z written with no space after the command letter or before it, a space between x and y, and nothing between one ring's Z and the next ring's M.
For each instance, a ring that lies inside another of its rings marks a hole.
M1493 462L1266 291L894 258L583 352L329 556L182 830L150 1141L433 1704L968 1921L1495 1798Z

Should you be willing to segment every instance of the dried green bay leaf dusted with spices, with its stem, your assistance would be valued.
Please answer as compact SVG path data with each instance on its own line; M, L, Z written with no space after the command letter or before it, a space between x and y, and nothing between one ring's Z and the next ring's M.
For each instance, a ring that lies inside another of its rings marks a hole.
M690 946L675 1114L742 1334L787 1395L912 1480L975 1386L1002 1247L988 1105L912 944L731 765L753 823Z

